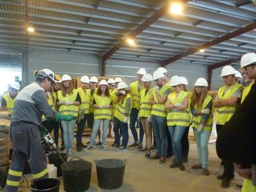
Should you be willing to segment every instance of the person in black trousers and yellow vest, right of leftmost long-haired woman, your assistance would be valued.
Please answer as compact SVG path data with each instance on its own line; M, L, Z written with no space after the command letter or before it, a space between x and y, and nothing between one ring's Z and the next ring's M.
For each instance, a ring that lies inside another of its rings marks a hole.
M79 87L78 93L81 97L81 104L79 108L79 119L77 121L77 132L76 132L76 150L77 152L82 151L82 147L87 147L82 142L83 132L84 132L84 126L86 124L86 120L88 118L88 113L90 109L90 90L87 90L88 84L90 83L88 76L83 76L80 79L81 81L81 87Z

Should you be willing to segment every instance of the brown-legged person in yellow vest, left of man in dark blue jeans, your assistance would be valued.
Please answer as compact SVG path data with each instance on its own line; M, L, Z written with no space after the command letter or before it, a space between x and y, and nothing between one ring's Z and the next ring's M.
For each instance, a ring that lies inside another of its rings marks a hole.
M139 150L139 152L146 152L147 158L150 157L150 150L152 145L152 124L150 122L150 113L152 104L150 104L150 97L153 95L154 88L151 87L152 76L150 74L146 74L142 77L141 81L143 82L143 86L145 89L141 90L140 95L140 120L143 127L143 131L146 136L146 147L144 149Z

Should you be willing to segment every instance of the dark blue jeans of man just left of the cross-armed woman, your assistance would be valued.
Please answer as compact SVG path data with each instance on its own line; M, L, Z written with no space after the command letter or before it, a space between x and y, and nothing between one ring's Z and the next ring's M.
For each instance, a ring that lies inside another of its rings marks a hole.
M163 116L151 116L151 124L153 125L156 138L156 153L158 156L166 157L167 154L167 136L166 136L166 118Z

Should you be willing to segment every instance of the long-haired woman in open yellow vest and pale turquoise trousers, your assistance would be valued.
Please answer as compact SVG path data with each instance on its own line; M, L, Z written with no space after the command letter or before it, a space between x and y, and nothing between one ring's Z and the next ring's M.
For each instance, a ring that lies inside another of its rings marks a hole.
M212 97L208 95L208 83L204 78L198 78L191 98L192 127L196 140L200 164L193 169L203 169L204 175L210 175L208 170L208 141L212 132Z

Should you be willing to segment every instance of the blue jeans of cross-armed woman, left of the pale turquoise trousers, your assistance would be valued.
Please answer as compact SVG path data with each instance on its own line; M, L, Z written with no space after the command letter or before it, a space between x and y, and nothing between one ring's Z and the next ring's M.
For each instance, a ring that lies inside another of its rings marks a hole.
M173 154L177 161L181 160L181 138L186 130L185 126L174 125L168 126L171 138Z

